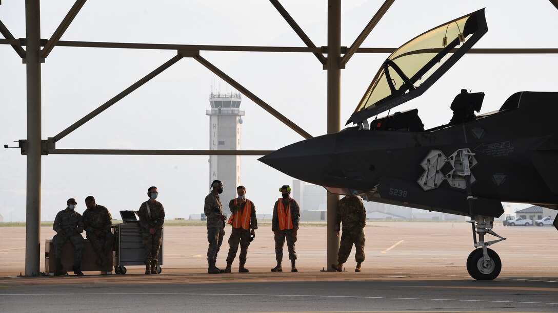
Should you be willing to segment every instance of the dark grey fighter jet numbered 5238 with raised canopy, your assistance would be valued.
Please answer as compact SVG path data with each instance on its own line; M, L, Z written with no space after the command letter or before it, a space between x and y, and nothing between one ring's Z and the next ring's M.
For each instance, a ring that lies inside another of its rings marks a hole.
M501 202L558 209L558 92L517 92L498 111L475 115L484 94L461 90L446 101L453 118L432 129L417 109L388 111L425 92L487 31L482 9L413 38L379 69L347 121L355 126L259 160L331 193L469 216L467 270L493 280L502 263L488 246L505 239L492 230Z

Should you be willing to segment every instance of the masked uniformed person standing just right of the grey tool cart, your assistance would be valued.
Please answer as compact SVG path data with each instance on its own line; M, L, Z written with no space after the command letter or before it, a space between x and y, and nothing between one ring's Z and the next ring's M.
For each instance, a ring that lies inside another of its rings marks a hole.
M162 244L163 223L165 223L165 208L158 202L159 192L157 187L151 186L147 189L149 200L140 206L140 228L143 246L145 247L145 273L157 274L157 263L159 262L159 250Z

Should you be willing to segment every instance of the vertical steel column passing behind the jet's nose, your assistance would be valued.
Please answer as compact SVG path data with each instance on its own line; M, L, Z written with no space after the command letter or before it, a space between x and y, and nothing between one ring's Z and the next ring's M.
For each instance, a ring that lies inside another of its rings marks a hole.
M340 130L341 111L341 0L328 0L328 134ZM337 263L339 237L335 236L335 219L339 195L328 193L328 263Z

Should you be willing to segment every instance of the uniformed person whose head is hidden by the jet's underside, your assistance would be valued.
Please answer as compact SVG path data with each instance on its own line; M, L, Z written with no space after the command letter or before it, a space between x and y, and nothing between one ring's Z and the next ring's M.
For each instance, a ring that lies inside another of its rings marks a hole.
M339 237L339 224L343 223L343 234L339 247L338 263L331 268L341 272L343 263L347 261L350 250L355 247L354 258L357 261L355 272L360 272L361 263L364 261L364 226L366 225L366 209L359 197L346 195L339 200L335 234Z

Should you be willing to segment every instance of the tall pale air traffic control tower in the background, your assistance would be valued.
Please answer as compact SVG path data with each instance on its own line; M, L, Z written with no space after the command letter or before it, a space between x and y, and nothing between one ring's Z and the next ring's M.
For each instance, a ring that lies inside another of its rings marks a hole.
M242 137L242 116L244 111L240 107L240 94L209 95L211 110L209 115L209 150L240 150ZM240 155L211 155L209 156L208 188L215 179L223 182L223 193L219 195L223 203L223 212L230 215L229 201L238 197L237 186L240 185Z

